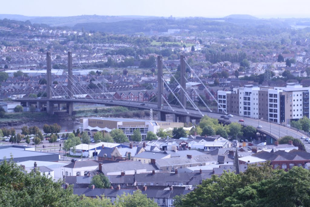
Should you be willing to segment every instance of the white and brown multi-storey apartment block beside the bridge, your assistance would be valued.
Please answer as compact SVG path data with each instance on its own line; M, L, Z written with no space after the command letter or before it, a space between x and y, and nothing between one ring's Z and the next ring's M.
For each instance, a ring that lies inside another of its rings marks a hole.
M218 91L218 112L289 124L303 116L309 118L309 93L310 87L298 83L286 87L245 85Z

